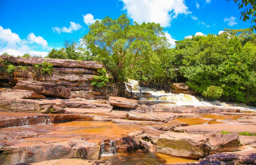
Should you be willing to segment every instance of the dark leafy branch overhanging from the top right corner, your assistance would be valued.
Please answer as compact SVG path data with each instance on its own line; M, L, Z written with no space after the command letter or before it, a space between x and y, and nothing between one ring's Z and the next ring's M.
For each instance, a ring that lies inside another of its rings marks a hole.
M229 0L227 0L229 2ZM231 0L235 3L240 2L239 0ZM256 30L256 1L255 0L242 0L241 3L237 4L239 9L244 7L244 11L241 12L241 18L243 17L243 21L249 20L251 16L252 21L251 23L254 23L254 25L251 26L251 29Z

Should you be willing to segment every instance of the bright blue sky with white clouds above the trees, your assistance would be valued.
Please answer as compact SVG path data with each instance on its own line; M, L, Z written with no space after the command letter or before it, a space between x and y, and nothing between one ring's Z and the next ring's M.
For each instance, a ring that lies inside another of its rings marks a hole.
M123 13L131 22L160 23L175 47L175 41L191 35L250 28L240 12L231 0L0 0L0 54L45 57L65 39L86 35L96 20Z

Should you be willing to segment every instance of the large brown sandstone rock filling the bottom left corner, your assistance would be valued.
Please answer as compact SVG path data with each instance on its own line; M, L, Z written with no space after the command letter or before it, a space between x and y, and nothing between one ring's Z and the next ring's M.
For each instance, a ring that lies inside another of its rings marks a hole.
M98 160L100 145L86 140L70 140L32 146L7 146L1 149L1 164L34 163L52 159L68 159L75 157Z

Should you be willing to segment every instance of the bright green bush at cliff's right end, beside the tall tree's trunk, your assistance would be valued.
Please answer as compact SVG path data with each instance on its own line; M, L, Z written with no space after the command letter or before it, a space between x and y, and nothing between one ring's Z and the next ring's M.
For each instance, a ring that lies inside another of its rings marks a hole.
M99 75L94 76L94 80L91 81L92 85L98 88L103 87L109 81L109 77L107 76L107 71L105 68L98 70Z

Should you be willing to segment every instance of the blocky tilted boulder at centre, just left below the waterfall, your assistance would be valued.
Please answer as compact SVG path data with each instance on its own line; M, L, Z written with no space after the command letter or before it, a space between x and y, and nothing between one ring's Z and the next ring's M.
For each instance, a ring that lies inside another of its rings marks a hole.
M135 109L138 106L138 100L121 98L121 97L109 97L109 104L112 106L118 106L123 108L133 108Z

